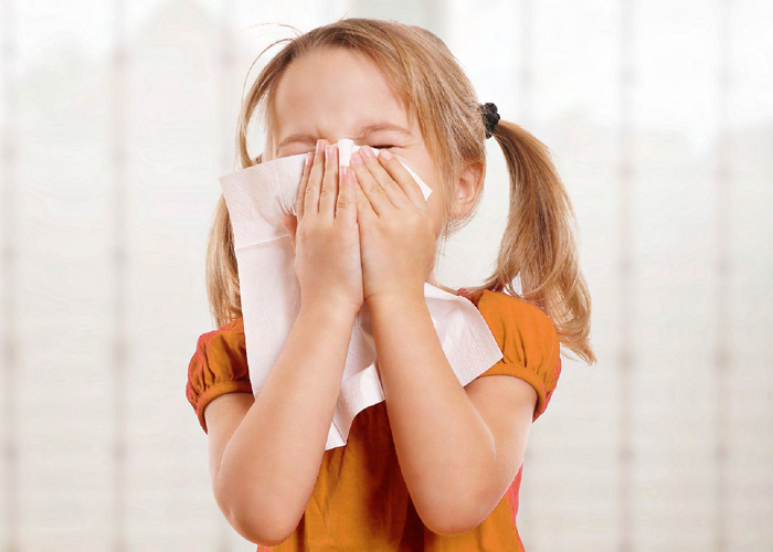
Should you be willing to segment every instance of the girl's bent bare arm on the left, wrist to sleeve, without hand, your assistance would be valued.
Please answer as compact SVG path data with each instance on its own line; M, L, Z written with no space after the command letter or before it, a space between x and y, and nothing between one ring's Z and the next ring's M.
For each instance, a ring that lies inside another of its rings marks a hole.
M306 510L356 316L322 302L301 307L257 397L230 393L204 411L215 500L229 523L251 542L283 542Z

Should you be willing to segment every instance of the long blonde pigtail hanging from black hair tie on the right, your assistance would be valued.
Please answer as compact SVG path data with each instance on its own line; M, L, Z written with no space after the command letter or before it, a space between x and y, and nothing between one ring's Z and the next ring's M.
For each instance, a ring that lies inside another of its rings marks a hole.
M507 290L553 321L562 344L586 363L591 297L580 272L576 223L548 147L521 126L499 120L493 136L507 161L510 209L494 274L480 287ZM520 294L513 282L520 280Z

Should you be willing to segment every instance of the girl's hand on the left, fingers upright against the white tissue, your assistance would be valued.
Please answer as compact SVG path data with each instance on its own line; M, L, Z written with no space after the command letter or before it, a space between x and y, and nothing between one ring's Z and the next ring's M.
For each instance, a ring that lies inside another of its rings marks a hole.
M309 162L311 160L311 162ZM301 308L325 304L357 314L364 301L356 183L338 184L338 148L317 140L298 187L297 217L285 215Z

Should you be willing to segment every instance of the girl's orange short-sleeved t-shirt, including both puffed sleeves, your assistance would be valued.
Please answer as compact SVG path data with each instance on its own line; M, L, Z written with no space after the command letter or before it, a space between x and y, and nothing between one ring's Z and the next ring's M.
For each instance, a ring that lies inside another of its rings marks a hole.
M502 351L502 360L478 378L506 374L537 391L532 422L547 408L561 373L560 343L550 318L510 295L484 289L462 295L473 301ZM204 433L204 408L223 393L252 393L243 319L199 338L188 369L186 395ZM523 465L497 507L478 527L444 537L430 531L413 507L400 471L382 401L353 420L347 444L326 450L317 485L295 532L257 552L299 551L522 551L516 528Z

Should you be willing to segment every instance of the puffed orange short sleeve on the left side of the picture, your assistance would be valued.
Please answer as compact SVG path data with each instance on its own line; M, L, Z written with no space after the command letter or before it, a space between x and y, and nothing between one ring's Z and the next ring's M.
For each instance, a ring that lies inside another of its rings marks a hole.
M188 364L186 397L208 433L207 405L220 395L240 392L252 393L241 318L199 337Z

